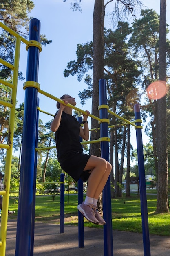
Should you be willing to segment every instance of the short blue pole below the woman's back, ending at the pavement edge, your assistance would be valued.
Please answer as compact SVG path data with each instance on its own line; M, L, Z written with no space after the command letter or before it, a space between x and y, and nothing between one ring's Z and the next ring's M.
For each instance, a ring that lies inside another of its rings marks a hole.
M64 233L64 173L60 174L60 233Z

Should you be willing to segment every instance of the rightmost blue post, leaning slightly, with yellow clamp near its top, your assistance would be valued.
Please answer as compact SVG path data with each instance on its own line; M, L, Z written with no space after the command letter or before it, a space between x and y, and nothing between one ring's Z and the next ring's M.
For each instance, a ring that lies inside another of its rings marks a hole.
M136 125L141 126L141 114L139 104L135 104L135 120ZM137 139L137 157L138 157L138 171L139 171L139 187L141 199L141 218L142 218L142 233L144 244L144 256L150 256L150 239L149 239L149 225L148 225L148 208L146 198L146 182L145 182L145 168L144 168L144 153L142 143L141 128L136 129Z

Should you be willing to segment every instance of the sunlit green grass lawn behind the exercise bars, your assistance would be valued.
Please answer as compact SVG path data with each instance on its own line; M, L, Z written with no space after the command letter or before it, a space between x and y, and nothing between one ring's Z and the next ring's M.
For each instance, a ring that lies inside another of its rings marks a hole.
M13 204L14 202L15 204ZM69 195L69 197L65 195L64 213L66 225L78 225L77 202L77 194ZM140 198L137 195L131 194L130 198L114 198L111 202L114 230L142 232ZM157 195L147 195L147 204L150 234L170 236L170 213L155 214ZM18 212L16 200L10 198L9 209L15 210L15 214L9 216L9 218L16 218ZM70 218L68 219L67 217ZM51 196L37 196L35 220L60 222L60 195L55 196L54 201ZM103 228L100 225L86 221L86 219L84 219L84 226Z

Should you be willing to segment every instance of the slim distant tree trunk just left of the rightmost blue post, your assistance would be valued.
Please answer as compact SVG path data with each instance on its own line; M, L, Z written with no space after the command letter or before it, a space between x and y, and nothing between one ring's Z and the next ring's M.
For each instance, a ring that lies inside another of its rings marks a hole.
M130 196L130 124L128 126L127 140L127 169L126 169L126 196Z

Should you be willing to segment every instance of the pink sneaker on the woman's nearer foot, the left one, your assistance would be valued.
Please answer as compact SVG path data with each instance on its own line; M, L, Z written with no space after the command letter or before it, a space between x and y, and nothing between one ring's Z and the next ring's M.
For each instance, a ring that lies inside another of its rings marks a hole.
M79 204L77 206L78 210L83 214L83 216L87 220L89 220L90 222L92 222L94 224L99 224L99 221L95 217L95 212L94 212L93 207L94 207L93 204L84 204L84 202L82 202L82 204Z

